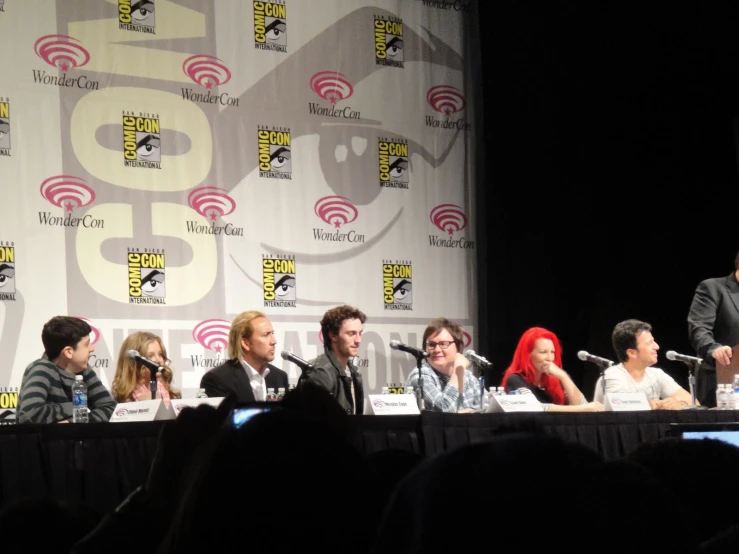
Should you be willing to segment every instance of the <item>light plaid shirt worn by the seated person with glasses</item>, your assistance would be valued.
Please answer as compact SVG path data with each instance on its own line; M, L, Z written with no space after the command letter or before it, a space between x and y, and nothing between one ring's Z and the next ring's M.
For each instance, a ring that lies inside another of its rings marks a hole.
M421 366L423 372L423 407L432 412L457 413L465 408L480 409L480 381L469 369L464 372L464 394L455 387L448 387L449 377L433 369L430 365ZM418 368L411 371L406 387L418 392ZM487 397L483 395L483 409L487 409Z

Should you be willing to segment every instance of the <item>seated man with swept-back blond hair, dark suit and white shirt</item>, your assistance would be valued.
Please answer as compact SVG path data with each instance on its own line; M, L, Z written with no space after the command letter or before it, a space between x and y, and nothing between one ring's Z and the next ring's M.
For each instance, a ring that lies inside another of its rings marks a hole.
M287 373L269 362L275 359L275 332L262 312L237 315L228 333L229 359L208 371L200 388L210 397L234 393L239 402L264 401L267 389L288 389Z

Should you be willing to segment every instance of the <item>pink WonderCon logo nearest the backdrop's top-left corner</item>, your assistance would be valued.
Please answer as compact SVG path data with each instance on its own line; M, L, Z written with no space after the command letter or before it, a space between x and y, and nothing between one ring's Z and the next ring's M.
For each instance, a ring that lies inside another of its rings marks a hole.
M55 87L75 87L85 90L98 90L100 83L86 75L70 77L68 71L83 67L90 61L90 53L82 43L69 35L44 35L33 45L36 55L51 67L61 70L61 75L51 75L46 71L34 69L33 82Z

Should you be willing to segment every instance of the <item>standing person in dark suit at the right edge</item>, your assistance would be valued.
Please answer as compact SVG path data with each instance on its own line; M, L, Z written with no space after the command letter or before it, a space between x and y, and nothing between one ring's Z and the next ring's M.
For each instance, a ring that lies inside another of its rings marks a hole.
M739 253L727 277L702 281L688 314L690 344L703 358L696 375L696 396L704 406L716 406L716 362L729 365L739 343Z

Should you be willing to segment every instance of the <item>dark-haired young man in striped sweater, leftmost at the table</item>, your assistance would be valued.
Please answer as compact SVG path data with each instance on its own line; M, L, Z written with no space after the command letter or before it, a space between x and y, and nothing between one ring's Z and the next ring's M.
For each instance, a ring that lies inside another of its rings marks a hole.
M76 317L57 316L44 325L44 355L23 373L18 423L67 423L72 419L72 384L81 374L87 385L90 421L108 421L115 400L87 362L95 347L90 326Z

